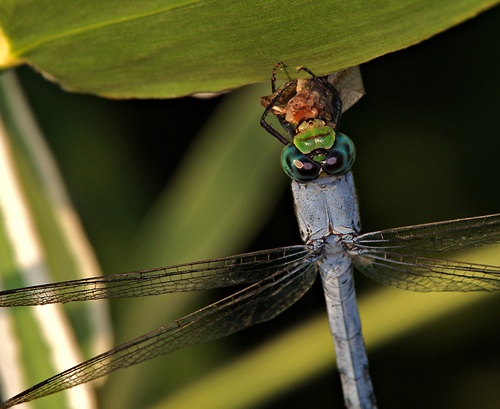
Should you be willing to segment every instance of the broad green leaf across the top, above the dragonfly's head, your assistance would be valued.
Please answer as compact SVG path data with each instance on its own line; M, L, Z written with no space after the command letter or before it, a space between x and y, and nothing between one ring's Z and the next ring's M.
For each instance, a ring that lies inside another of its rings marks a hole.
M65 1L0 4L0 67L116 98L217 92L276 61L327 74L416 44L494 0Z

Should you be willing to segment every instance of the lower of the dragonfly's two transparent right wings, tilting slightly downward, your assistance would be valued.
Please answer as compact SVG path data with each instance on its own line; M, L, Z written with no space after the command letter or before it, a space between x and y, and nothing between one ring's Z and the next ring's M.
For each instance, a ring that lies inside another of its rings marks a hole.
M495 291L500 267L444 261L385 251L354 257L354 266L371 279L410 291Z

